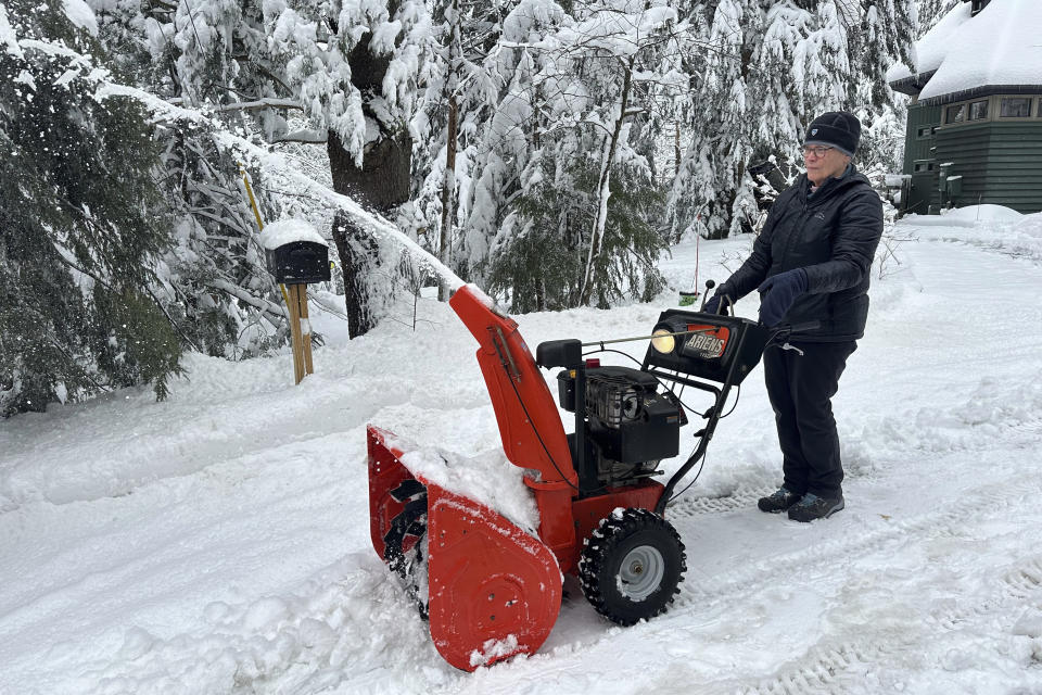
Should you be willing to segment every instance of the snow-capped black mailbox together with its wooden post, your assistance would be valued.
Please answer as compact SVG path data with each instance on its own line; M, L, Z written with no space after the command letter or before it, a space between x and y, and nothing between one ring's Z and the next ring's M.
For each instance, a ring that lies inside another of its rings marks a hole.
M293 338L293 376L300 383L306 375L315 371L307 286L329 280L329 245L308 223L292 218L268 225L260 239L268 270L276 282L285 286L283 295L290 311L290 336Z

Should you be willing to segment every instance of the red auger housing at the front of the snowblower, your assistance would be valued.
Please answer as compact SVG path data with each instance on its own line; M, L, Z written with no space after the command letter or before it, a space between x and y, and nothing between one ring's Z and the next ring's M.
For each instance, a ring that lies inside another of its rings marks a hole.
M495 510L414 476L391 437L368 428L372 545L394 565L425 541L427 557L418 559L427 563L427 591L409 589L429 616L437 652L473 671L538 649L561 603L561 571L549 548ZM417 503L422 508L410 514ZM395 569L416 579L407 566Z

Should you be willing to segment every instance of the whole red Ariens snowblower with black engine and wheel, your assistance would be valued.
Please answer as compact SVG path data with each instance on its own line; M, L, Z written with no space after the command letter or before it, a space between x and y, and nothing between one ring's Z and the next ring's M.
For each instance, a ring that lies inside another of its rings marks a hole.
M666 503L704 456L730 389L767 344L803 327L668 309L641 338L650 344L638 369L599 366L579 340L541 343L533 358L518 325L473 286L449 305L480 344L503 447L524 469L539 526L535 538L410 471L394 435L369 426L372 544L405 578L439 653L468 671L534 653L557 620L562 572L577 576L594 608L618 624L663 612L686 571ZM618 341L592 345L609 342ZM558 397L575 415L571 434L539 367L562 368ZM659 463L677 455L687 424L684 388L713 403L696 414L704 422L694 453L663 484Z

